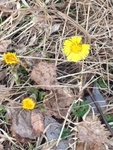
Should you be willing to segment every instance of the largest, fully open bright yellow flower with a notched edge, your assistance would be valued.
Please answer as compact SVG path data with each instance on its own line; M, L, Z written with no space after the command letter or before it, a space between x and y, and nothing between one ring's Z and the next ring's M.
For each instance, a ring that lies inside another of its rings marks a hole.
M90 50L89 44L82 44L80 36L73 36L63 43L63 52L68 60L77 62L85 59Z

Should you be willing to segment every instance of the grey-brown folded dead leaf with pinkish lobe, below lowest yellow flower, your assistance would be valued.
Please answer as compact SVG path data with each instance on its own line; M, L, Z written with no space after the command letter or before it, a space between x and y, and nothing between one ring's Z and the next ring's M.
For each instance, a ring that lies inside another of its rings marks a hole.
M19 108L14 109L13 106L7 109L7 117L11 119L13 136L20 142L36 139L43 132L43 116L38 110L26 111Z

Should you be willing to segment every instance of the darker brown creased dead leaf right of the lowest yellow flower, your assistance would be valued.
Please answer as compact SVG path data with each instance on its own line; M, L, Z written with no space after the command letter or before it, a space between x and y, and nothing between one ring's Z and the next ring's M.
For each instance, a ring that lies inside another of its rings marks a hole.
M59 88L56 92L46 95L43 102L46 107L46 114L55 117L66 116L69 106L75 100L75 95L69 88Z

